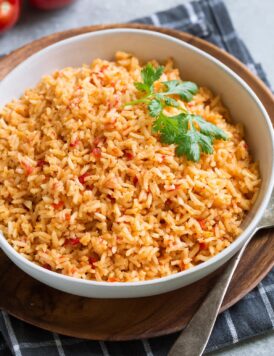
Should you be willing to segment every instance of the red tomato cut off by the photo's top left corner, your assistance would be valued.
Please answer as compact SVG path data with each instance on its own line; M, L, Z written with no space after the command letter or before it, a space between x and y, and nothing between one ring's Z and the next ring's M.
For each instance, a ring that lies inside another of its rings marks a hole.
M11 28L20 14L20 0L0 0L0 32Z

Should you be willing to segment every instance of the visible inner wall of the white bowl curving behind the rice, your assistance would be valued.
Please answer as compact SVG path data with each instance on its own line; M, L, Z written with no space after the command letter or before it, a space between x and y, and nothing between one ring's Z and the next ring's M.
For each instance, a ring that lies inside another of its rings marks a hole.
M243 223L246 231L240 239L246 239L260 220L273 185L272 126L265 109L247 84L219 61L195 47L144 30L105 30L76 36L36 53L7 75L0 83L0 107L18 98L26 88L36 85L45 74L67 66L89 64L95 58L110 60L117 50L133 53L142 62L151 59L164 62L173 57L183 80L207 86L219 94L228 106L233 121L244 125L247 142L254 159L259 161L262 176L258 199ZM239 243L235 242L236 245ZM227 250L233 249L233 245ZM226 253L223 251L221 255Z

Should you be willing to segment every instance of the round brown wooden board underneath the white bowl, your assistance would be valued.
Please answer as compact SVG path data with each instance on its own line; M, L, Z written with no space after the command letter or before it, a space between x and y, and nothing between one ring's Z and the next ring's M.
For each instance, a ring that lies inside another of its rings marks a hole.
M192 35L147 25L83 27L44 37L0 60L0 80L28 56L54 42L81 33L118 27L162 32L210 53L253 88L274 122L271 92L238 60ZM273 235L273 230L265 230L253 238L234 274L221 311L253 289L273 267ZM60 292L32 279L0 251L0 307L30 324L64 335L96 340L148 338L182 329L220 273L222 269L190 286L154 297L88 299Z

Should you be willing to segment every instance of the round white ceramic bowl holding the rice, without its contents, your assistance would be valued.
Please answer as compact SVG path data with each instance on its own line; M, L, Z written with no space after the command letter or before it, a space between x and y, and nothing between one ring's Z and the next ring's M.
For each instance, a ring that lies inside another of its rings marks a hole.
M92 32L58 42L29 57L0 83L0 107L34 86L44 74L66 66L80 66L94 58L112 59L117 50L146 61L172 56L184 80L211 88L221 95L235 122L246 129L246 139L260 163L262 186L255 205L243 223L243 233L228 248L192 269L144 282L96 282L48 271L18 254L0 233L0 246L23 271L62 291L96 298L143 297L165 293L193 283L231 258L256 231L273 188L273 132L262 103L250 87L224 64L205 52L173 37L135 29Z

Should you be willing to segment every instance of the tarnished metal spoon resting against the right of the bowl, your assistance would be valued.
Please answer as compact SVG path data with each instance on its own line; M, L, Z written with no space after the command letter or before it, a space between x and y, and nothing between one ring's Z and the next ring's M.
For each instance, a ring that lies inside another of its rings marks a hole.
M268 207L262 220L256 228L258 230L274 227L274 192L272 193ZM233 277L233 274L240 262L244 250L252 236L245 242L241 250L228 262L224 273L219 277L214 288L208 293L205 300L188 323L187 327L181 332L175 341L168 356L200 356L202 355L213 326L218 316L220 307L225 297L226 291Z

